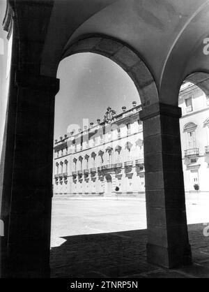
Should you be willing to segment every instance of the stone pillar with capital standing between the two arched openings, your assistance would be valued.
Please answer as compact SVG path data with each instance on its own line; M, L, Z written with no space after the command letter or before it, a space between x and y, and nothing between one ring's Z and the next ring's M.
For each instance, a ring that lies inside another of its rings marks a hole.
M165 268L190 264L180 147L181 109L155 103L140 113L148 225L147 258Z

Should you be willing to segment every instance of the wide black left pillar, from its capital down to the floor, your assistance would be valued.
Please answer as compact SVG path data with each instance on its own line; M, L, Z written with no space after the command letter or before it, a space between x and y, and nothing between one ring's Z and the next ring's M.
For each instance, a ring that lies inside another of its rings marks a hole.
M1 159L1 277L48 277L59 80L17 69L11 80Z

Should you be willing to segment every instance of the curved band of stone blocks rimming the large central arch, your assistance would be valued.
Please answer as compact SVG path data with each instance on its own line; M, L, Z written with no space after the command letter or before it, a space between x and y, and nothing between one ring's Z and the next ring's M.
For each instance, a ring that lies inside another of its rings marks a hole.
M142 108L157 103L159 98L153 75L138 52L125 43L109 36L84 36L63 52L61 60L80 52L101 54L121 66L137 87Z

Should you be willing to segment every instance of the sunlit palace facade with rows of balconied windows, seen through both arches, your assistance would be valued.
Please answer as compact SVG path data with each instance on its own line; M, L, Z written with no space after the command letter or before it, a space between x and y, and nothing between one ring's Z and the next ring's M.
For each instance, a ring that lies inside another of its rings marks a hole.
M180 89L180 134L187 194L209 195L209 98L192 83ZM141 105L116 115L107 108L84 129L55 140L54 195L144 197ZM178 184L178 182L176 182Z

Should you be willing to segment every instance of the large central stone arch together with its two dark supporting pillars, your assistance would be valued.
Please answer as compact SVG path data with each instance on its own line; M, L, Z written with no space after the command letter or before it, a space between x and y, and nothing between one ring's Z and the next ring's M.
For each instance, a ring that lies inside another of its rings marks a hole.
M15 52L17 43L16 46ZM180 109L159 103L152 74L128 45L108 37L88 38L78 41L64 56L86 51L104 54L121 65L141 97L139 116L144 124L148 261L166 268L189 264ZM16 64L17 55L14 58ZM7 147L1 168L1 216L6 233L1 240L1 250L6 255L1 256L2 272L4 277L49 277L54 96L59 80L34 77L19 71L17 66L12 73L7 117L10 131L5 136ZM14 152L12 159L10 152Z

